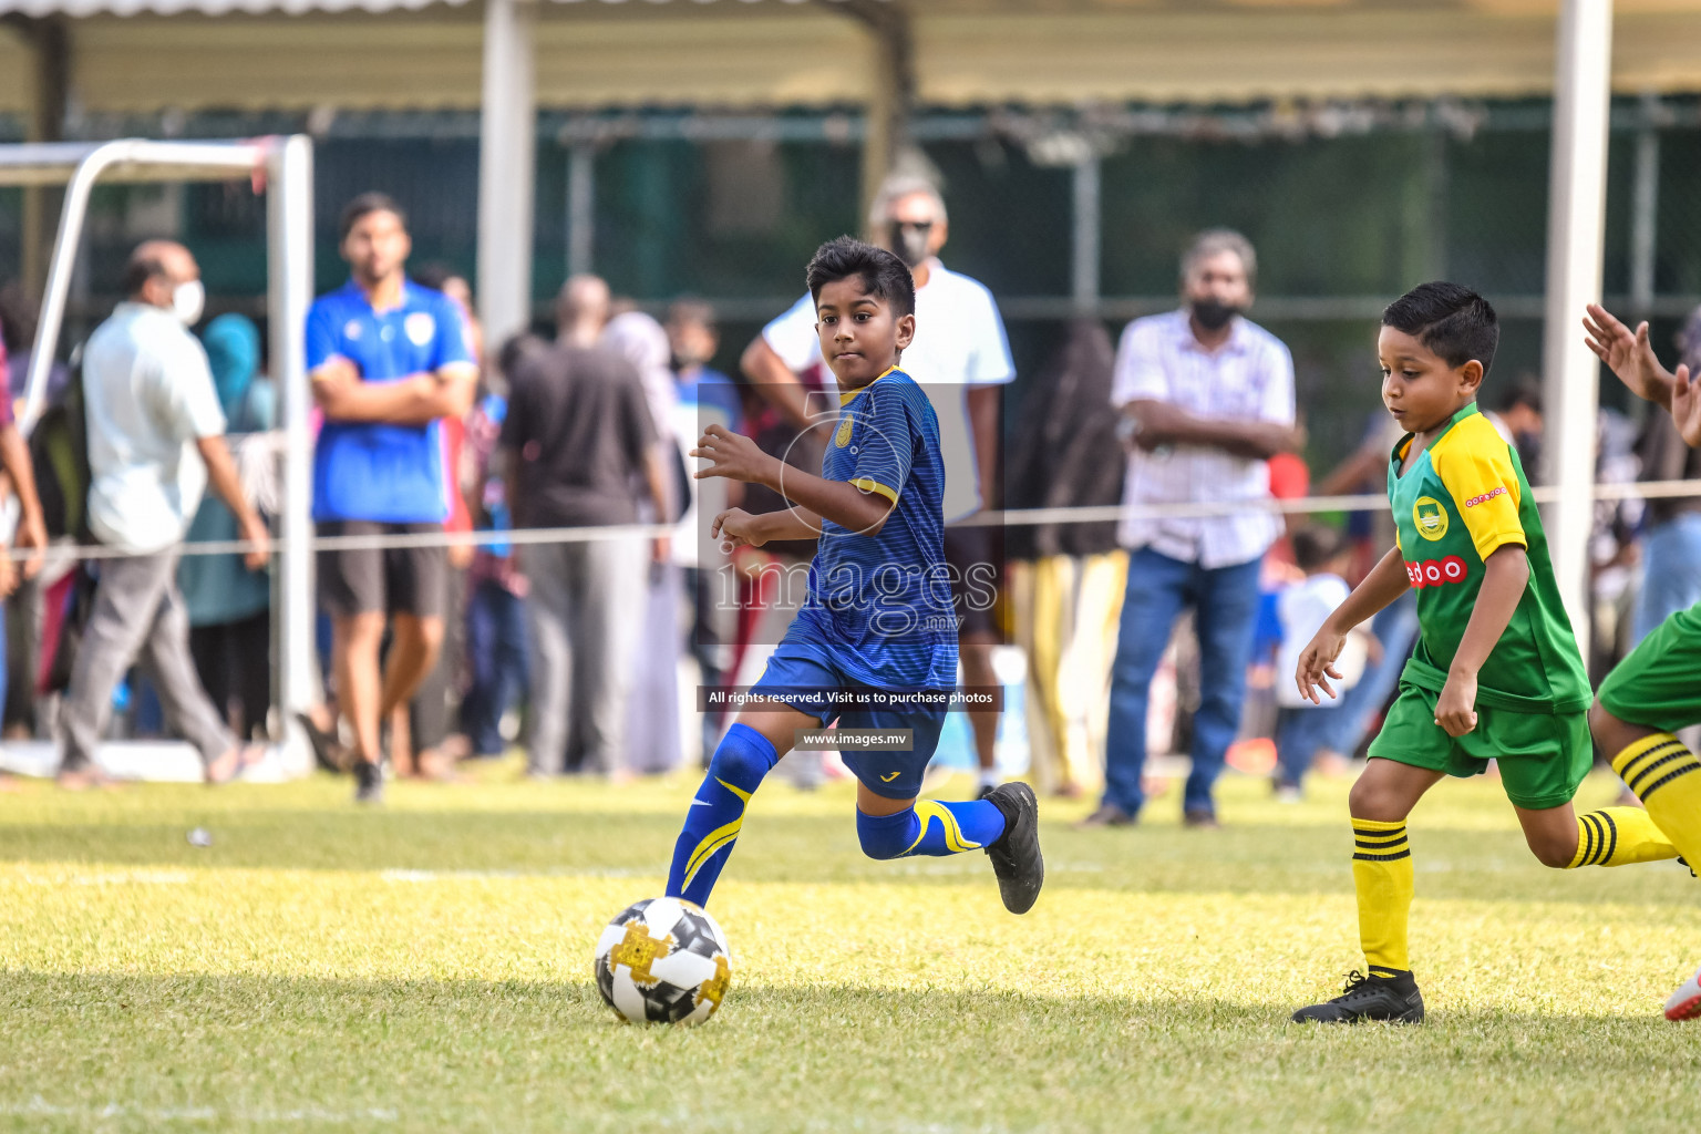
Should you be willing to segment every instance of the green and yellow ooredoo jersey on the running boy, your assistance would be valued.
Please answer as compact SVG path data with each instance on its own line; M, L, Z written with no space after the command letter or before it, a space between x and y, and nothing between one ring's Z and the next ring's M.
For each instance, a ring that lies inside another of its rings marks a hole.
M1514 712L1585 711L1589 675L1517 452L1475 403L1454 413L1402 473L1412 444L1408 434L1388 462L1388 502L1420 626L1402 680L1441 692L1476 609L1485 561L1517 544L1529 558L1529 585L1476 677L1476 702Z

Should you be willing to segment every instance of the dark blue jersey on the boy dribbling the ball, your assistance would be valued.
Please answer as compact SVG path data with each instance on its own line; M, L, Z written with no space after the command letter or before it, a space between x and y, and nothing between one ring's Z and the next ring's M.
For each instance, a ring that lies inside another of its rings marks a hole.
M784 641L828 648L839 668L876 689L954 687L946 473L934 406L896 367L840 398L822 476L895 507L874 536L822 520L808 597Z

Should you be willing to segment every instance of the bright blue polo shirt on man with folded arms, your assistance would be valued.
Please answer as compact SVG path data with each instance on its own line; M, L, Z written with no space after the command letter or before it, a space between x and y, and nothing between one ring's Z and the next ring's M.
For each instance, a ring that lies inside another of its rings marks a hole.
M308 311L308 371L347 359L362 383L471 362L461 311L439 291L403 284L401 306L373 311L349 281ZM437 423L325 422L313 449L313 519L441 524L449 519Z

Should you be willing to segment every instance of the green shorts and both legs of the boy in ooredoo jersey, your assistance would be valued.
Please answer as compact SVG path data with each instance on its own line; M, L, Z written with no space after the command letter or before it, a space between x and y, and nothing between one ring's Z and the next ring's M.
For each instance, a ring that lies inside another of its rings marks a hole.
M1437 695L1425 689L1400 687L1349 797L1352 881L1368 976L1354 974L1342 996L1301 1008L1294 1020L1424 1018L1407 949L1414 870L1405 819L1424 792L1446 775L1476 775L1497 758L1524 838L1546 865L1624 865L1677 853L1636 808L1607 808L1584 816L1572 811L1572 797L1592 763L1582 712L1553 716L1478 706L1476 728L1454 738L1436 723L1436 700Z

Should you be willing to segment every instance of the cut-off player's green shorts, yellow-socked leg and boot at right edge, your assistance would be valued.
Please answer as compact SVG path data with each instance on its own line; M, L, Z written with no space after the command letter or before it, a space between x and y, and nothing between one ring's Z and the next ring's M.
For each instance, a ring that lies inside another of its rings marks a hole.
M1701 865L1701 760L1677 729L1701 724L1701 607L1670 615L1618 663L1589 717L1596 743L1653 821L1696 869ZM1665 1015L1701 1015L1701 974L1665 1003Z

